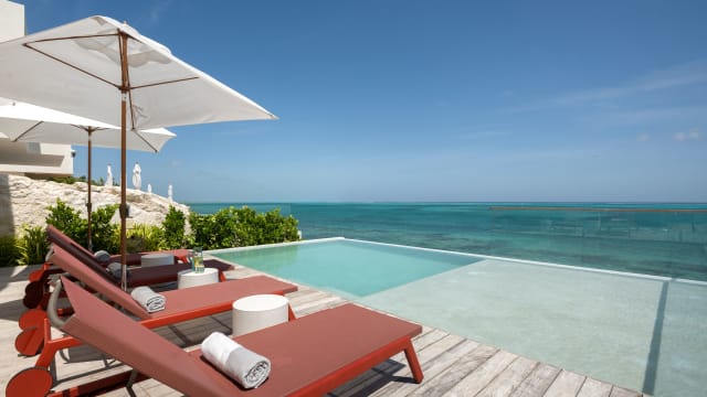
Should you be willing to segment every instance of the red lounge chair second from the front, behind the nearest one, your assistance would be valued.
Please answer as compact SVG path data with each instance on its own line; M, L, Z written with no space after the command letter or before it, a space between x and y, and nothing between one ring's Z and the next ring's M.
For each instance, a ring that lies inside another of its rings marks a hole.
M266 276L226 280L208 286L160 292L167 300L165 310L148 313L128 292L123 291L113 282L107 281L103 276L88 268L61 247L54 247L52 260L60 268L84 282L88 288L99 292L106 297L107 300L137 316L143 326L150 329L229 311L232 309L233 302L243 297L258 293L285 294L297 290L297 287L294 285L278 281ZM35 332L40 337L40 345L43 343L42 352L36 360L35 367L49 368L56 352L62 348L80 345L81 342L70 336L52 340L51 325L46 318L48 313L43 313L44 318L40 322L40 325L33 325L25 331L30 330ZM289 310L289 318L294 319L292 309Z

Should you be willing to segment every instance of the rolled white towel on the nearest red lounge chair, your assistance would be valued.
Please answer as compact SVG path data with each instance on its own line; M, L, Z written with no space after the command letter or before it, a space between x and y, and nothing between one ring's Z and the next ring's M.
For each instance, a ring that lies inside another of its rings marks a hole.
M207 361L245 388L262 385L270 375L270 360L220 332L203 340L201 353Z

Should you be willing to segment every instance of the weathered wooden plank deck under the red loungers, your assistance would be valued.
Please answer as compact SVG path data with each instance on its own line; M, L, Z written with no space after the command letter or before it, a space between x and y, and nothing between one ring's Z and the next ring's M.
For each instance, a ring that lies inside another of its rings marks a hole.
M19 371L34 365L36 357L23 357L14 350L19 332L17 321L24 312L22 297L32 268L0 268L0 387L4 394L8 380ZM243 278L257 273L239 268L229 273ZM346 301L328 292L300 287L287 296L297 316L336 307ZM192 320L157 332L175 343L190 347L212 331L230 333L231 313ZM59 335L59 334L57 334ZM458 335L423 325L414 341L424 373L420 385L411 383L410 369L402 354L333 390L330 396L567 396L567 397L639 397L640 393L606 384L539 363ZM87 346L63 351L52 368L60 380L57 389L101 378L125 369L110 357ZM180 396L181 394L149 379L137 384L138 396ZM109 396L127 396L125 389Z

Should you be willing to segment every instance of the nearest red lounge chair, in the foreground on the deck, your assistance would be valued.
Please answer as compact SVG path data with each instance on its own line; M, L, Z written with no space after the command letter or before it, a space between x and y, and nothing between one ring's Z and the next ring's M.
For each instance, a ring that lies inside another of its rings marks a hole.
M136 324L85 290L62 277L75 313L62 331L114 356L134 368L53 396L94 394L96 389L130 387L133 379L155 378L188 396L319 396L362 374L390 356L404 352L414 380L422 369L411 339L420 325L346 304L306 315L235 339L243 346L270 358L268 379L244 390L218 372L201 351L184 352L155 332ZM20 375L20 374L19 374ZM18 376L19 376L18 375ZM17 383L8 396L43 395L51 387L49 375L40 382Z

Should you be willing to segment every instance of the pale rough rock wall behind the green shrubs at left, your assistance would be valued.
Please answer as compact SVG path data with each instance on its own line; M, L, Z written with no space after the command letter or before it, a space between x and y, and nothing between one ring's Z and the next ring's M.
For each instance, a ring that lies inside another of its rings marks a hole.
M120 203L118 186L91 186L91 192L94 211L107 204ZM45 226L44 219L49 214L46 208L56 205L56 198L78 210L82 217L86 217L86 183L65 184L0 174L0 236L15 234L24 225ZM189 214L187 205L170 202L154 193L128 189L127 201L130 206L128 228L134 224L161 224L170 205ZM117 211L112 222L120 222Z

